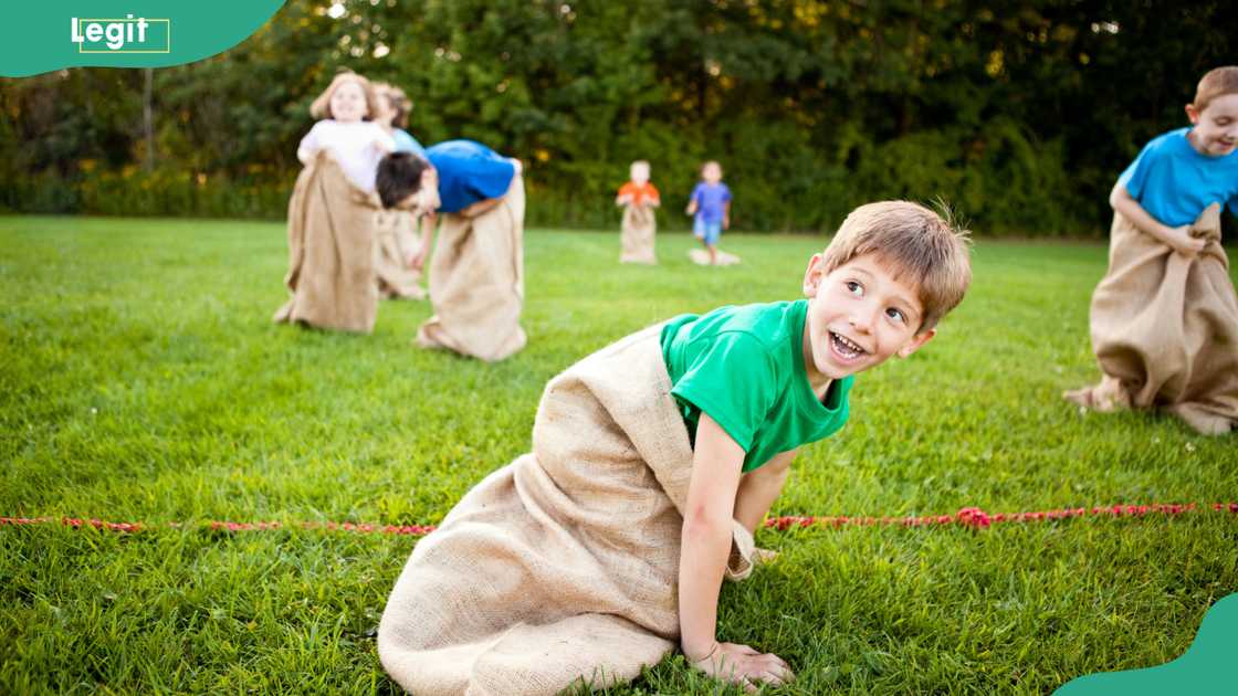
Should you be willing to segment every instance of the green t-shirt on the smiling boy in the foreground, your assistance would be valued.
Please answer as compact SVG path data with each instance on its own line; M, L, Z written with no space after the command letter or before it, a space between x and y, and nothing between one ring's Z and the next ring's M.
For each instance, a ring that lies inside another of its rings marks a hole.
M671 394L696 443L701 411L744 448L745 472L779 452L833 435L847 422L852 376L817 400L803 368L808 301L721 307L662 328Z

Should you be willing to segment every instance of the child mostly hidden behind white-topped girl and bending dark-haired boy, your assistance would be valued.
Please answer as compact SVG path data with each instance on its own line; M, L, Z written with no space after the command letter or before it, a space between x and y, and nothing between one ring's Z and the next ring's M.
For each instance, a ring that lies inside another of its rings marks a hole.
M395 139L395 151L425 159L426 149L405 130L412 100L402 89L385 82L375 84L374 92L379 105L374 121ZM423 214L422 229L432 229L435 220L433 213ZM415 229L416 218L407 211L379 211L375 218L374 271L379 295L384 298L426 298L426 291L420 285L421 271L409 263L417 249Z

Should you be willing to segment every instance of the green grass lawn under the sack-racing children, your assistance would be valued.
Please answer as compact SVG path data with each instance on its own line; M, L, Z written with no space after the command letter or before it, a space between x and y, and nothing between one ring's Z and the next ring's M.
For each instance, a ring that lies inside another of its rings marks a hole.
M617 233L527 234L529 347L498 365L270 323L279 224L0 218L0 515L437 521L529 448L542 385L660 318L797 294L807 237L728 235L742 266L620 266ZM1236 498L1233 436L1081 415L1099 245L980 243L941 334L860 375L775 511L937 514ZM1238 520L763 531L723 639L786 658L786 694L1045 692L1182 654L1238 591ZM201 526L0 528L0 692L391 692L373 629L415 539ZM713 694L681 658L615 694Z

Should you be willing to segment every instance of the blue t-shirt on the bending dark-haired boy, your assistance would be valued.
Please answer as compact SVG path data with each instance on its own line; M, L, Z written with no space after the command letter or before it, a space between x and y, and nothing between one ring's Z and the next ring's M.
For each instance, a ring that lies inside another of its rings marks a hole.
M472 140L448 140L426 149L426 159L438 170L439 211L458 213L478 201L508 192L516 167L503 155Z

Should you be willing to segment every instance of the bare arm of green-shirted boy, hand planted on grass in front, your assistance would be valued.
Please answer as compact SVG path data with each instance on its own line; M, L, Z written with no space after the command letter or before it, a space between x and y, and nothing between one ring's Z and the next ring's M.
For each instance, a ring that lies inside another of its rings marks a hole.
M680 643L696 668L754 689L791 679L786 663L747 645L718 643L718 592L730 557L744 450L708 414L697 424L680 547Z

